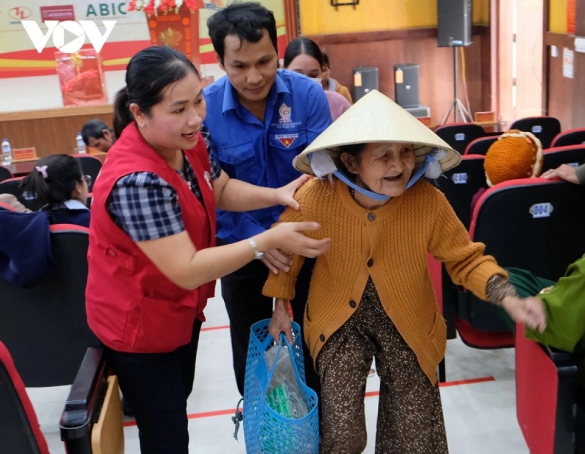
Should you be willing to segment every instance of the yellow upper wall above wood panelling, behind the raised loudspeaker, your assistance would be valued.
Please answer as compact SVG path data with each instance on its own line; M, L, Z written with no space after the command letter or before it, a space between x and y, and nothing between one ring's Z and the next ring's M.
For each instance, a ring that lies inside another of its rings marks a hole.
M473 0L473 23L490 22L489 4ZM436 0L360 0L356 9L340 6L338 11L328 0L300 0L299 9L303 35L437 26Z

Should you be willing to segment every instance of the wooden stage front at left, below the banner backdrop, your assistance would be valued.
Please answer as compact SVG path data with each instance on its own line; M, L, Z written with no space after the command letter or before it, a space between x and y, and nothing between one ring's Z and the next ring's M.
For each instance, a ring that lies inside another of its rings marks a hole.
M12 148L35 146L37 155L71 154L83 124L98 118L112 126L112 106L68 107L0 114L0 138Z

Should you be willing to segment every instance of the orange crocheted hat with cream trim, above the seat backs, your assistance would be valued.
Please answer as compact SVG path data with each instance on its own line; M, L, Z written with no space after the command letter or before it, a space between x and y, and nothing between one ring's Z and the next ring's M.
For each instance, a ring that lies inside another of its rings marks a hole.
M542 144L531 132L510 129L495 141L483 162L487 185L541 175Z

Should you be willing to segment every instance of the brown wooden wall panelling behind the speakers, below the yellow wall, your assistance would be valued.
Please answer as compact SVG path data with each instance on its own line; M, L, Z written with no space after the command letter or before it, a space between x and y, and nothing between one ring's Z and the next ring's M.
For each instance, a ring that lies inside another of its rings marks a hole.
M476 26L474 32L473 45L464 48L472 115L490 110L491 101L489 28ZM441 121L453 101L453 49L437 47L436 29L308 37L328 54L332 77L349 88L352 95L355 67L378 67L380 91L394 99L394 64L418 63L421 104L431 107L433 124ZM459 60L458 97L466 104Z

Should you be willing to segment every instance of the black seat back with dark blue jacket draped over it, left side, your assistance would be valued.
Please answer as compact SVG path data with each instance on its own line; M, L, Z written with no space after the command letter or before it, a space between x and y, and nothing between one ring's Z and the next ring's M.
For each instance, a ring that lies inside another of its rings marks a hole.
M0 279L0 339L27 387L73 383L85 350L98 344L85 315L89 229L50 230L53 274L32 288Z

